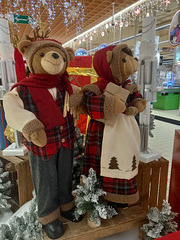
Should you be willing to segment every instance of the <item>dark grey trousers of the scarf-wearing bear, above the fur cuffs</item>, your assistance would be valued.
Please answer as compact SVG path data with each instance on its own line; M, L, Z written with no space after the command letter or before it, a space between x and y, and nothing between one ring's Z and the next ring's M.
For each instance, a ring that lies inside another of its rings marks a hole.
M29 152L33 184L37 196L38 217L45 217L60 205L73 201L73 151L61 147L48 161Z

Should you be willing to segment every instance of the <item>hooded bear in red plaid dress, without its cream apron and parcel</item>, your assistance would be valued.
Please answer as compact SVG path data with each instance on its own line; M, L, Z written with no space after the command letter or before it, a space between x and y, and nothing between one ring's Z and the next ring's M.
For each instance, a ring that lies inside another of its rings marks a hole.
M90 168L100 177L101 151L104 123L116 113L135 115L145 109L146 101L142 99L135 84L128 77L137 70L137 61L126 44L108 46L94 55L93 66L99 79L97 83L83 88L83 111L91 117L88 125L82 174L88 175ZM123 103L117 96L105 96L104 90L109 82L130 91ZM72 94L73 99L73 94ZM71 102L73 100L71 99ZM100 120L100 121L99 121ZM115 143L118 144L118 143ZM105 198L110 202L133 204L138 201L136 177L129 180L100 177L106 191Z

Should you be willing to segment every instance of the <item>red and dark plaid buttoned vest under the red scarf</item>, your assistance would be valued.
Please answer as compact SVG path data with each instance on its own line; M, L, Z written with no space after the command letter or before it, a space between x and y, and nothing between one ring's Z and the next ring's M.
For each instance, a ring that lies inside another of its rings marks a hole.
M18 86L17 91L24 103L24 108L30 112L33 112L39 119L38 108L33 102L28 88L24 86ZM57 88L56 104L61 112L63 112L64 108L64 97L65 91ZM45 132L47 135L47 145L45 147L38 147L23 137L23 143L27 149L37 156L42 157L43 160L50 159L61 146L69 149L73 148L75 141L75 129L73 116L70 113L67 113L67 116L63 118L63 123L61 126L58 125L52 129L45 128Z

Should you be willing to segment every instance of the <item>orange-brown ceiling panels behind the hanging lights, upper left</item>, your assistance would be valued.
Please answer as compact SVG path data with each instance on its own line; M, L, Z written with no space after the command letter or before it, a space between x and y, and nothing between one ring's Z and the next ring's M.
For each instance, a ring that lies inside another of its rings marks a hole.
M39 0L34 0L36 1ZM21 11L22 15L29 15L27 12L27 3L28 0L21 0L21 2L24 2L24 11ZM54 2L57 2L57 0L54 0ZM88 30L89 28L97 25L98 23L102 22L103 20L109 18L112 16L112 2L115 2L115 13L119 12L120 10L130 6L131 4L137 2L136 0L82 0L80 2L83 2L84 4L84 27L83 31ZM1 3L1 12L6 13L7 9L7 3L9 1L2 1ZM21 8L21 5L19 4L19 9ZM18 7L17 7L18 9ZM41 9L40 18L41 21L47 22L47 13L42 8ZM50 32L50 38L54 38L62 43L65 43L72 38L76 37L76 21L73 21L69 24L68 31L66 31L66 25L64 23L64 16L62 11L58 9L58 7L55 8L56 10L56 19L53 21L53 24L51 26L51 32ZM39 16L37 16L39 17ZM21 24L20 26L20 32L19 32L19 38L22 39L24 35L32 35L32 28L30 25Z

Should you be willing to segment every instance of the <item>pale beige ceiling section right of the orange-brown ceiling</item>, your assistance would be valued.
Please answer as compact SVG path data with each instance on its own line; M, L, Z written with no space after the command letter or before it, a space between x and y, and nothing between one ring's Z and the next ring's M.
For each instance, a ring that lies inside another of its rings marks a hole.
M171 0L171 4L168 6L165 11L158 11L156 13L157 18L157 28L166 26L171 23L173 15L176 11L180 9L180 5L176 0ZM136 33L142 32L142 19L138 20L138 26ZM127 28L123 28L122 30L122 39L127 39L129 37L134 36L135 34L135 26L128 26ZM160 31L156 32L157 36L159 36L159 50L160 54L163 55L164 58L173 58L175 48L171 47L169 44L169 27L166 27ZM101 43L105 42L110 44L112 42L118 42L120 40L120 30L119 27L115 27L114 30L111 28L110 32L106 32L104 37L101 34L97 35L96 38L91 42L91 49L96 49ZM137 41L141 41L141 36L136 38ZM132 38L131 40L125 41L123 43L128 44L128 46L133 50L135 45L135 40ZM81 46L77 46L77 42L73 44L73 48L76 49L78 47L83 47L85 49L90 49L87 43L81 43ZM164 51L164 49L166 49ZM168 51L169 49L169 51Z

